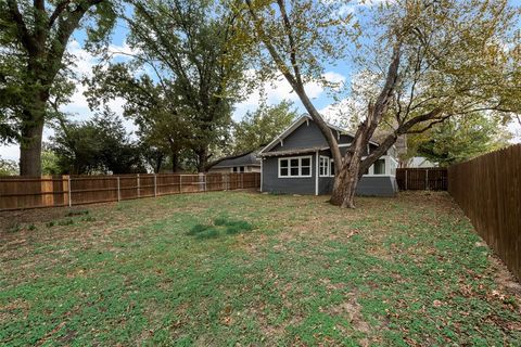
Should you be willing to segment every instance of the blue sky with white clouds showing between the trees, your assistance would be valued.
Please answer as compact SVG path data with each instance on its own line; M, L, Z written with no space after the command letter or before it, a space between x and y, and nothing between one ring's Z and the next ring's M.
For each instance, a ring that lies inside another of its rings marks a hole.
M363 0L356 0L354 4L350 4L343 8L343 11L356 11L357 7L370 5L371 3L378 3L385 0L370 0L370 2L364 2ZM519 1L519 0L512 0ZM513 3L513 2L512 2ZM114 54L115 60L125 60L128 59L124 54L118 53L131 53L131 49L126 44L126 36L128 29L126 26L119 22L114 30L112 36L112 41L110 50ZM69 53L74 54L76 60L76 66L73 67L73 70L81 77L88 77L92 74L92 67L97 64L97 57L87 52L82 48L86 35L85 31L76 31L71 39L67 50ZM346 65L336 65L329 66L325 70L323 77L332 82L340 82L343 85L350 85L356 76L352 74L351 69ZM77 83L76 91L71 99L71 103L62 106L62 111L71 115L71 120L86 120L91 118L94 115L94 112L90 111L87 104L87 100L84 97L85 87L81 83ZM268 104L277 104L282 100L290 100L294 103L295 107L300 113L304 113L305 110L302 106L298 97L294 93L289 86L289 83L280 77L277 80L271 82L266 82L264 85L265 98ZM322 113L327 118L334 119L338 106L334 105L334 100L328 93L328 91L320 86L319 83L313 82L306 86L306 91L308 97L313 100L315 106L319 112ZM233 112L233 119L240 120L249 111L254 111L258 107L260 102L259 91L251 92L245 100L236 104L236 110ZM110 102L109 106L116 114L122 115L123 118L123 106L125 101L122 99L116 99ZM124 119L125 127L129 133L132 133L136 130L135 125L130 120ZM512 133L516 134L512 142L521 143L521 126L519 124L512 123L509 126L509 129ZM49 137L53 134L52 129L46 128L43 133L43 141L48 141ZM0 158L8 158L13 160L18 160L20 150L18 145L0 145Z

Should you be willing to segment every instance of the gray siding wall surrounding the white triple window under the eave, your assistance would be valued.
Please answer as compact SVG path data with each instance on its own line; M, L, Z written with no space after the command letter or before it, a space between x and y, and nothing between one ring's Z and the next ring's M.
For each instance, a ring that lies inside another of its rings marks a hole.
M307 154L306 154L307 155ZM279 157L263 160L263 192L283 194L315 194L315 154L312 157L312 177L279 178Z

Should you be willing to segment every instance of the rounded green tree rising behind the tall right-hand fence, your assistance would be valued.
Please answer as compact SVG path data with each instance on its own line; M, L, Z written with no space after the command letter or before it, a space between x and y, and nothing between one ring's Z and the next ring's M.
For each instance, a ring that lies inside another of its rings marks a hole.
M511 136L501 119L485 114L452 117L432 129L410 136L409 155L424 156L447 167L508 145Z

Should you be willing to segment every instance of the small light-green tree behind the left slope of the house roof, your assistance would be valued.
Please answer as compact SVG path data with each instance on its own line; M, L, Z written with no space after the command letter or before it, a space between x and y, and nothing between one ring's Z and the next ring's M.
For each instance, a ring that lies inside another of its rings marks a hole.
M253 113L247 112L233 126L233 154L267 145L297 117L293 103L282 101L268 106L264 102Z

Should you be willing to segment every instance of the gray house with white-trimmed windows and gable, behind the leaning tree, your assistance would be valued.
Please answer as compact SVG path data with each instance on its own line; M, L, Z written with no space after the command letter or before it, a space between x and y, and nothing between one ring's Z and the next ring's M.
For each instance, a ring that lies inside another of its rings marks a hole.
M353 134L329 126L345 154ZM370 142L367 153L378 147ZM313 119L304 115L294 121L259 153L260 191L290 194L330 194L334 180L334 160L326 138ZM395 149L381 156L364 175L356 193L369 196L394 196L398 162Z

